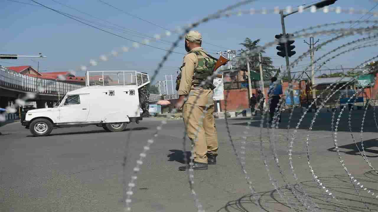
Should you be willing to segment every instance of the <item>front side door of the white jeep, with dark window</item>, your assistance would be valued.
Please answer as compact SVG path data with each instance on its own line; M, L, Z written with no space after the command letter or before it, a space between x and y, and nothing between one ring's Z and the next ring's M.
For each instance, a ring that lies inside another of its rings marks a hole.
M58 123L86 121L89 113L89 94L67 95L59 107Z

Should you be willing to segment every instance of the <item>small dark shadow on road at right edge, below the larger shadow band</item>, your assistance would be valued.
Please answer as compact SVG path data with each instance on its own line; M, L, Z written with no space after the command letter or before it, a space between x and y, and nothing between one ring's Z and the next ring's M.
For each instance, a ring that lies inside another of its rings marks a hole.
M366 155L366 157L370 157L370 158L376 158L376 157L378 157L378 151L377 150L369 149L371 147L378 147L378 139L366 140L363 143L364 143L364 150L365 150L365 152L369 152L369 153L375 154L375 155ZM363 151L362 150L361 142L358 141L358 140L356 140L356 144L355 143L351 143L351 144L346 144L346 145L339 146L339 152L343 152L343 153L348 154L348 155L361 155L361 153L358 151L358 149L361 152ZM357 146L358 146L358 148L357 148ZM342 151L342 149L350 149L350 151ZM336 148L335 147L330 148L330 149L328 149L328 151L336 152Z

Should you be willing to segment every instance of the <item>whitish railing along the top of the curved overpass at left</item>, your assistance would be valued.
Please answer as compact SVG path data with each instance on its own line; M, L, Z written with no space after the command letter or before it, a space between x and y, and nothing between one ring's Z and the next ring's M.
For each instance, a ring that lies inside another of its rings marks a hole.
M25 92L38 92L40 94L65 94L84 86L64 83L57 80L45 80L29 77L0 66L0 86Z

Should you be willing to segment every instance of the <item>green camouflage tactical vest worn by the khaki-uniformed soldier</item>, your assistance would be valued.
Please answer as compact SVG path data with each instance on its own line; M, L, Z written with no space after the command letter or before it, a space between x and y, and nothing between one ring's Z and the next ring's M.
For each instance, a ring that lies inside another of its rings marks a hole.
M192 84L194 86L202 87L203 89L211 89L214 90L216 87L212 83L212 80L209 80L208 83L201 85L202 81L207 80L214 72L215 63L217 63L217 59L212 57L211 55L206 54L208 57L203 56L200 52L204 52L202 49L198 49L193 53L197 55L197 68L194 69L194 75L192 79ZM180 81L181 81L181 68L180 67L180 74L177 76L176 79L176 90L180 88Z

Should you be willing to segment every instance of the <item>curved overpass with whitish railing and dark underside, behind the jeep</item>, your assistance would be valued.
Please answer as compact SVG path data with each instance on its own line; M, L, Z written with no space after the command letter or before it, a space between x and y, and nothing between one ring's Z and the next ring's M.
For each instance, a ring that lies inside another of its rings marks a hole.
M37 102L37 108L45 108L46 104L53 107L59 97L82 87L84 86L59 80L30 77L0 65L0 108L6 108L10 102L24 97L28 92L36 94L36 98L31 101Z

